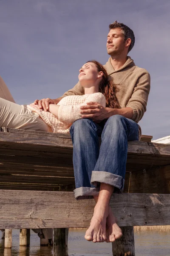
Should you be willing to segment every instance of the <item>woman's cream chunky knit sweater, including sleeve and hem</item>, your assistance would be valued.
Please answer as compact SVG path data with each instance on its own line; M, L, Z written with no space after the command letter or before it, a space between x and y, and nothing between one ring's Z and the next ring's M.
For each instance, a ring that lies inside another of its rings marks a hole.
M51 127L52 132L68 134L72 123L82 119L80 106L87 105L88 102L98 102L103 107L106 106L106 99L102 93L85 94L82 96L71 95L60 100L58 118L50 112L39 111L27 105L29 109L38 113L42 120Z

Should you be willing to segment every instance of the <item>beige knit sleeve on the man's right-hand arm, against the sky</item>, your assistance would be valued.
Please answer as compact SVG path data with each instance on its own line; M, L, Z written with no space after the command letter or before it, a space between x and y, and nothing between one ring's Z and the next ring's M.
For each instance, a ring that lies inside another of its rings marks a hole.
M133 109L132 120L139 122L146 111L147 99L150 92L150 74L145 72L139 77L133 94L129 99L126 107Z

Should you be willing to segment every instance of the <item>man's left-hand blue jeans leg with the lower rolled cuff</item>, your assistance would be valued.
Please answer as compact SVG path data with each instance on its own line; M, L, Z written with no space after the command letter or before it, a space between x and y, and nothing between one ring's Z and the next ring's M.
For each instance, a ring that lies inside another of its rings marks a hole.
M99 194L99 188L91 185L91 172L99 157L98 135L101 132L102 128L90 119L79 119L71 126L76 185L74 195L77 199L93 198Z

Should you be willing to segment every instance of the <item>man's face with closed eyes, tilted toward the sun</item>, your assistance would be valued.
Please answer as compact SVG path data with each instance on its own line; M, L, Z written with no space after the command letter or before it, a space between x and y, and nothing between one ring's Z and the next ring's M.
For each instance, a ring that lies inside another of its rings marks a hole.
M125 37L122 29L111 29L108 33L107 51L109 55L119 55L125 49Z

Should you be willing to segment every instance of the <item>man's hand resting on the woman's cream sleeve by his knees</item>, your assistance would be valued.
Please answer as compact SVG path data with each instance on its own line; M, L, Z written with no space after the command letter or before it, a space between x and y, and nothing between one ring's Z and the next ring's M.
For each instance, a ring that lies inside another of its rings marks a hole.
M94 122L101 122L109 118L108 113L111 108L104 108L97 102L88 102L87 105L80 107L82 118L92 119Z

